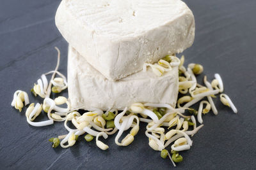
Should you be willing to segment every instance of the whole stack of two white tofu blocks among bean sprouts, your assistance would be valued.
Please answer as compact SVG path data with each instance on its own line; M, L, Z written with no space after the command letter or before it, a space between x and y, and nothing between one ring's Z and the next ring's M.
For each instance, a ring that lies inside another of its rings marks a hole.
M70 44L72 108L122 110L134 102L175 104L178 69L157 77L145 62L192 45L193 13L179 0L63 0L56 25ZM76 49L76 50L75 50Z

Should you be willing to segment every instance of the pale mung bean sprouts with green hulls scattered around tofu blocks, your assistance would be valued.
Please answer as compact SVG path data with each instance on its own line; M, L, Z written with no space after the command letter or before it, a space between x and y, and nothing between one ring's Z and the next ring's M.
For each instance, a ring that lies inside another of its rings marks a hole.
M31 103L26 110L28 124L36 127L64 122L68 133L49 139L53 148L59 145L62 148L68 148L76 144L79 136L84 136L87 142L95 138L96 145L102 150L107 150L109 146L99 138L102 136L106 139L113 134L116 134L116 145L127 146L134 141L140 130L140 122L145 122L147 123L145 135L148 137L148 145L153 150L161 152L163 159L169 157L173 166L176 166L175 163L183 160L180 152L191 148L193 144L191 137L204 126L202 113L205 115L212 110L215 115L218 114L213 102L217 94L220 94L221 103L237 113L230 98L227 94L223 94L223 81L220 74L214 74L215 79L211 83L204 76L204 85L200 85L197 83L196 74L203 72L202 65L191 63L186 68L184 56L179 59L175 55L167 55L155 64L145 63L143 71L147 71L149 66L157 76L163 76L164 72L172 70L173 67L179 67L179 93L182 97L177 100L177 107L165 103L133 103L120 113L115 108L105 112L95 108L95 110L83 111L84 113L81 114L83 107L71 109L66 97L50 98L51 92L58 94L67 89L67 78L58 72L60 50L58 48L56 50L58 52L56 68L54 71L42 74L31 89L35 96L42 97L44 101L42 104ZM51 75L51 80L47 80L47 75ZM197 110L191 108L195 103L200 103ZM28 94L17 90L13 95L12 106L22 111L22 108L28 104ZM67 106L61 107L63 104ZM42 110L47 113L49 120L34 122ZM68 127L68 121L76 128ZM120 139L124 131L128 130L127 136ZM168 146L171 148L169 151L166 149Z

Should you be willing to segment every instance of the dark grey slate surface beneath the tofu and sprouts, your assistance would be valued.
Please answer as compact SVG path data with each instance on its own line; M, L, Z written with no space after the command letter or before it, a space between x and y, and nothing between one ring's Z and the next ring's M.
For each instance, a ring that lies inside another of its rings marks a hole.
M95 142L80 138L72 148L51 148L47 139L66 134L63 123L48 127L27 124L25 111L11 107L13 92L29 92L42 73L54 69L56 50L61 50L60 72L67 74L67 42L54 24L60 1L1 0L0 2L0 78L1 169L170 169L148 146L145 124L134 143L119 147L115 136L106 140L108 151ZM204 128L192 139L191 150L182 153L184 169L255 169L255 54L256 1L186 1L195 15L195 43L184 52L186 64L199 62L204 74L220 73L227 93L239 110L214 100L219 115L204 117ZM179 55L180 56L180 55ZM202 78L202 76L200 77ZM67 95L67 92L64 93ZM41 99L31 96L31 102ZM46 119L44 113L40 119Z

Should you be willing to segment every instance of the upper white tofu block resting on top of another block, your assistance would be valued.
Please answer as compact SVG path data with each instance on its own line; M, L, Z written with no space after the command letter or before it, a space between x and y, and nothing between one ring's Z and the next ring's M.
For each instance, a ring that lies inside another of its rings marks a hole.
M63 0L55 20L68 43L109 80L180 53L195 37L193 13L179 0Z

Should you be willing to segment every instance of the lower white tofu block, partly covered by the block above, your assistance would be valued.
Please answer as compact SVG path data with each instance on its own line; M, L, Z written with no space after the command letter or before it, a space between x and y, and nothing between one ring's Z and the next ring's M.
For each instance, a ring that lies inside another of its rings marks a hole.
M68 49L68 97L72 108L124 110L132 103L168 103L175 106L179 90L177 67L157 77L148 67L118 81L106 79L74 49Z

